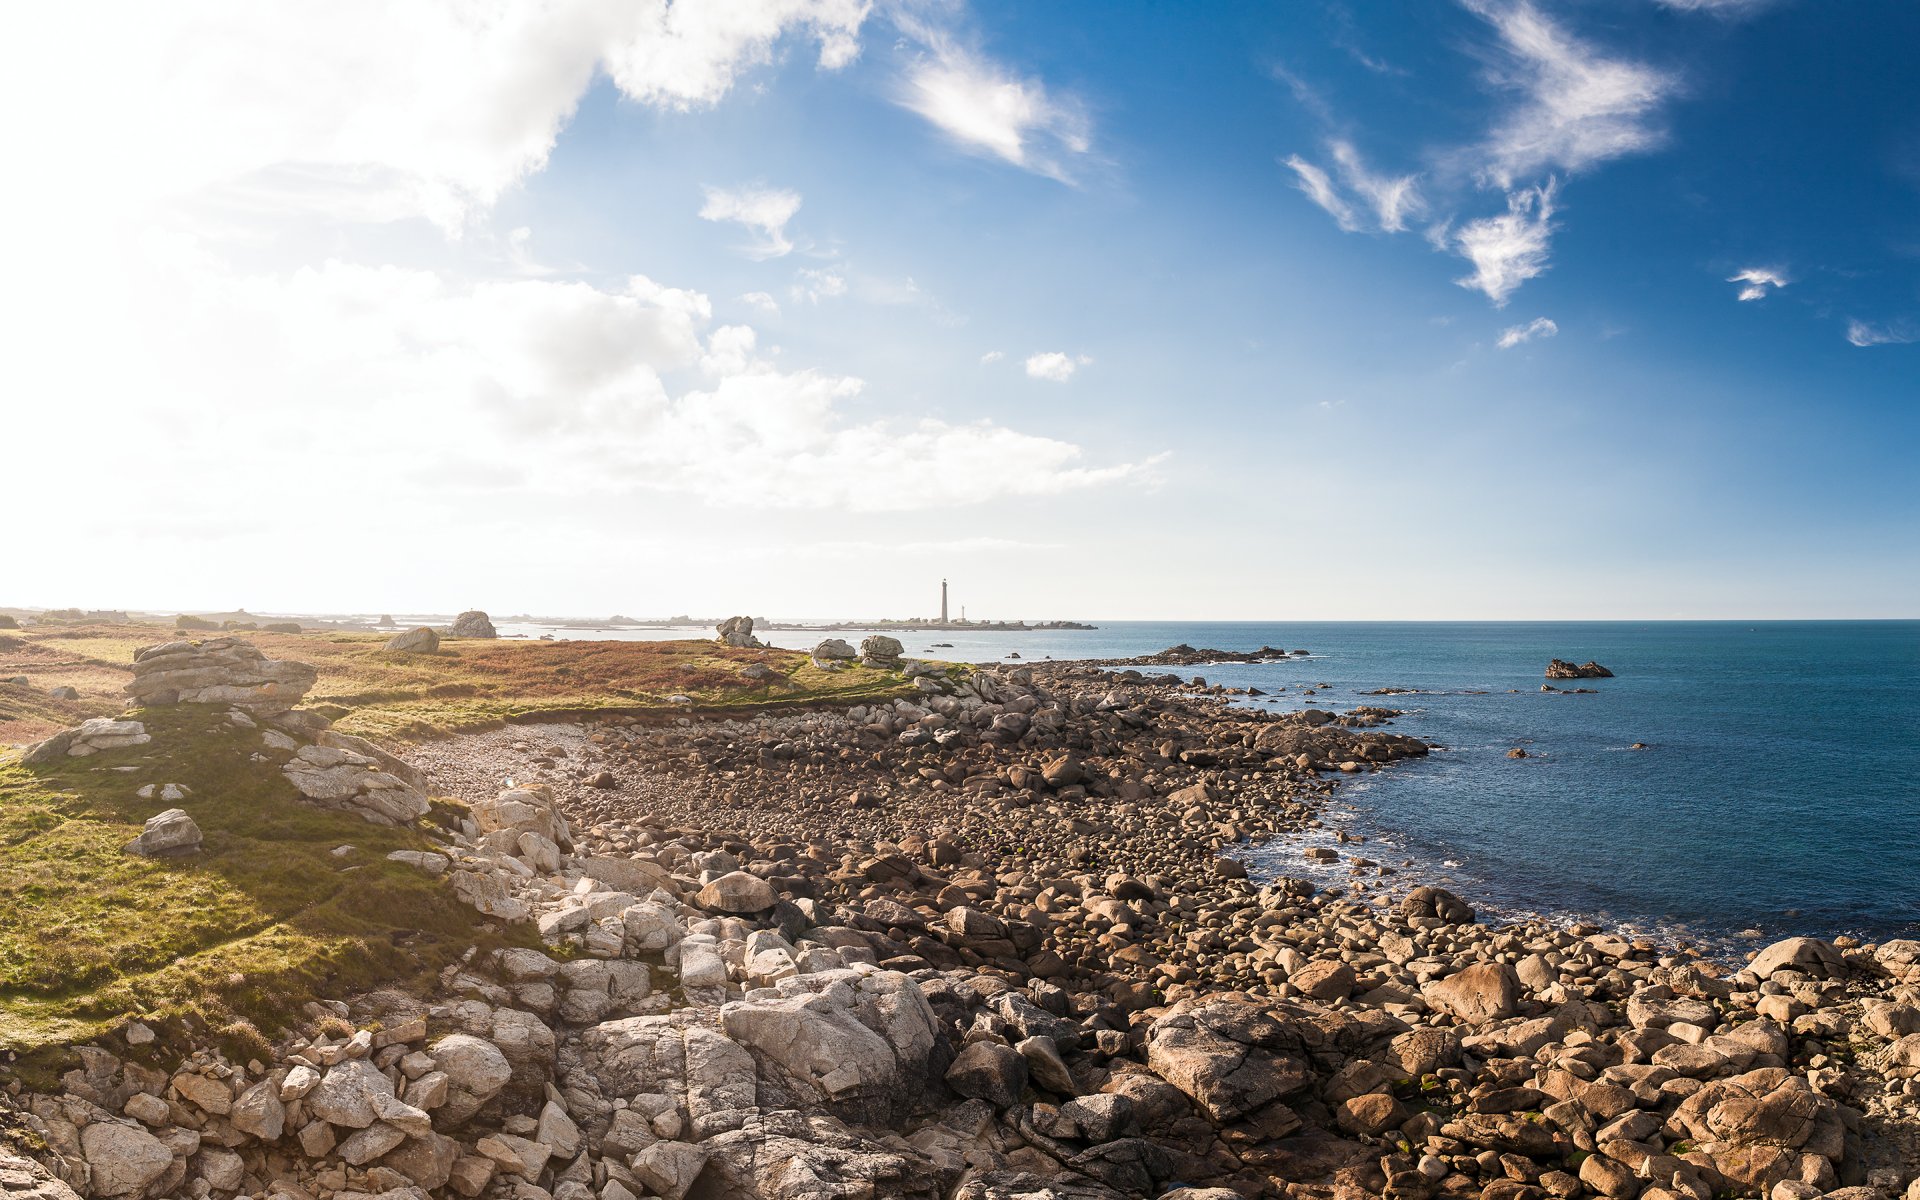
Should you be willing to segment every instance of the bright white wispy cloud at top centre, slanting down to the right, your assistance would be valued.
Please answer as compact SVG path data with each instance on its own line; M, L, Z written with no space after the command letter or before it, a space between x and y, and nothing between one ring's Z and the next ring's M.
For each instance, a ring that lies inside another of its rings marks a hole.
M947 31L900 25L925 46L906 71L900 106L970 154L1071 182L1073 161L1092 150L1092 125L1077 100L1048 94L1039 79L1014 75Z

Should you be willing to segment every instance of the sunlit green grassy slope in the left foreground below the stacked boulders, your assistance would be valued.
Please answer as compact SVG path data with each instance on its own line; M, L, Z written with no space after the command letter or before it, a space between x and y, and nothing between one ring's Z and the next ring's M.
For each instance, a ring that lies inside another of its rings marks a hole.
M424 833L300 803L286 756L217 712L148 708L134 716L150 745L0 762L0 1048L94 1037L127 1016L276 1031L317 993L424 981L499 939L440 879L386 862L426 849ZM173 806L138 799L144 783L192 789L179 806L204 852L125 852ZM332 854L342 845L353 851Z

